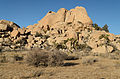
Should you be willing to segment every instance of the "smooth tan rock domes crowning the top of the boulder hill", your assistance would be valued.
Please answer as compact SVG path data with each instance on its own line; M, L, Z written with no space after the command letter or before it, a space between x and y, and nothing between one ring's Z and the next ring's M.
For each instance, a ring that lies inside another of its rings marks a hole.
M57 13L50 11L43 19L38 21L38 26L52 26L59 22L81 22L83 24L93 24L86 12L86 9L84 7L76 7L71 10L61 8Z

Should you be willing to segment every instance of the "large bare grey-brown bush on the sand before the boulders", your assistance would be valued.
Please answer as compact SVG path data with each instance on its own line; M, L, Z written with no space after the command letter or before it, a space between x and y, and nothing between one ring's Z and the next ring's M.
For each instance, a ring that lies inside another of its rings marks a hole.
M28 52L26 63L34 66L61 66L65 54L58 50L34 49Z

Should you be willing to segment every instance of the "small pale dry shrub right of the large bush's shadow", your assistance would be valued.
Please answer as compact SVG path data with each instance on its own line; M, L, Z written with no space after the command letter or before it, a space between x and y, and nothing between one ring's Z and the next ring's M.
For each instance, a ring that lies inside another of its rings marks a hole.
M85 57L82 59L82 64L83 65L92 65L95 62L98 62L98 59L95 57Z

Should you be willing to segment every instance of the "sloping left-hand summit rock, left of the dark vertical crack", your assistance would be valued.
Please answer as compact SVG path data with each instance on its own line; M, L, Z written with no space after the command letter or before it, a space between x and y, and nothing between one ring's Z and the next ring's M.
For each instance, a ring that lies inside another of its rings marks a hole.
M58 10L57 13L50 11L42 20L39 21L38 26L52 26L58 22L65 22L66 13L67 10L64 8Z

